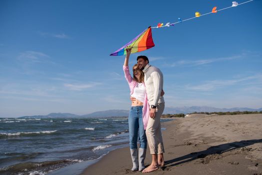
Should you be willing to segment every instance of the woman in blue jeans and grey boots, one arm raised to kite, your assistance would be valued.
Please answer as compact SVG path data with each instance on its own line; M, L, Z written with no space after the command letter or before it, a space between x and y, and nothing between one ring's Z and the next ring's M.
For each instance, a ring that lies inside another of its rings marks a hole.
M149 106L147 103L145 86L143 83L143 72L138 68L137 64L133 66L133 77L129 73L128 60L131 53L131 48L126 49L126 57L124 59L123 71L124 77L130 87L130 95L135 99L132 100L131 108L128 116L129 126L129 146L133 162L132 171L142 171L144 169L144 158L146 152L146 135L143 119L148 119ZM139 137L138 137L139 134ZM139 138L140 146L139 153L137 152L137 137Z

